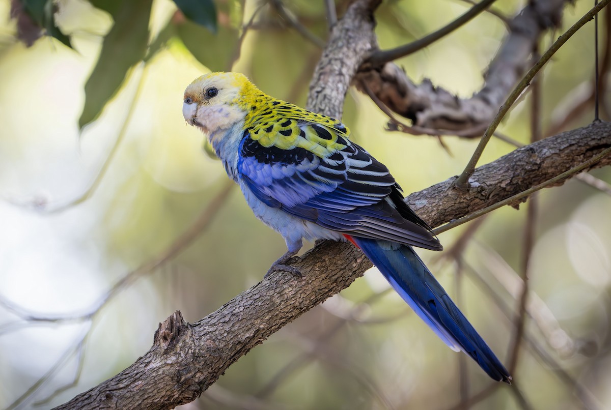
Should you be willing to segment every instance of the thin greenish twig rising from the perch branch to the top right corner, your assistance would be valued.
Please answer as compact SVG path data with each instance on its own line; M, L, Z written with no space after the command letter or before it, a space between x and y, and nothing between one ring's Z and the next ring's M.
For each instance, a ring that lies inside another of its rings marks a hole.
M486 144L492 137L492 134L496 130L497 126L499 126L500 121L503 119L503 117L505 117L505 114L507 114L508 110L511 108L511 106L513 106L513 103L515 103L516 99L518 99L524 89L528 87L532 79L535 77L536 73L538 73L539 70L543 68L547 60L551 59L551 57L555 54L556 51L558 51L558 49L560 49L560 47L566 42L566 40L571 38L571 36L575 34L577 30L584 26L585 23L590 21L592 17L595 16L596 13L598 13L600 10L602 10L603 7L609 4L609 2L611 2L611 0L602 0L602 2L596 5L593 9L585 13L585 15L580 18L577 23L573 24L573 26L571 26L571 28L569 28L565 32L565 34L558 37L558 40L556 40L554 44L549 49L547 49L543 56L541 56L541 58L524 76L524 78L522 78L522 81L520 81L519 84L516 85L516 88L514 88L510 95L507 97L505 103L503 103L503 105L500 107L499 113L497 113L496 117L494 117L494 120L492 120L492 122L488 126L488 129L486 129L486 132L484 133L483 137L481 137L480 143L475 149L475 152L473 153L473 156L469 160L469 163L465 167L463 173L461 173L461 175L454 182L456 187L465 189L468 186L469 177L473 174L475 166L477 165L481 154L483 154L484 148L486 148Z

